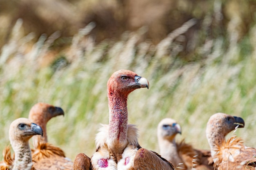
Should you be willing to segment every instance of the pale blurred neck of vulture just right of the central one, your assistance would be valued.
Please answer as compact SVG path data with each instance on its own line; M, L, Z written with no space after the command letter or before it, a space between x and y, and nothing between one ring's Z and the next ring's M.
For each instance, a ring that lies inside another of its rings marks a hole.
M159 139L158 144L160 155L163 158L167 159L168 161L171 161L171 163L173 163L174 168L177 167L178 163L182 163L182 159L180 159L180 156L177 152L175 139L173 139L172 141L168 141L166 139ZM185 168L183 164L180 164L178 167Z

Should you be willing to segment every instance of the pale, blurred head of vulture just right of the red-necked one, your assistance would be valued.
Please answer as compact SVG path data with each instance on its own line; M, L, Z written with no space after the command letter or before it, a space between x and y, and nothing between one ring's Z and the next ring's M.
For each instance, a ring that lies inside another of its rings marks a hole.
M165 118L157 126L158 139L173 141L177 133L181 134L181 127L174 119Z

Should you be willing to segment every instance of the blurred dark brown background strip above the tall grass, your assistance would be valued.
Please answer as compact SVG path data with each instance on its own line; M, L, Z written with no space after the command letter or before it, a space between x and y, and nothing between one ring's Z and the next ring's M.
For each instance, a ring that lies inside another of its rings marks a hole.
M141 41L157 44L184 22L195 18L197 24L182 37L184 50L180 54L191 59L197 46L205 40L228 36L236 31L239 38L255 23L255 0L1 0L0 46L10 39L10 31L18 18L23 20L24 35L51 35L60 31L54 44L70 44L70 38L89 22L96 27L91 34L96 42L106 38L119 40L124 31L146 26Z

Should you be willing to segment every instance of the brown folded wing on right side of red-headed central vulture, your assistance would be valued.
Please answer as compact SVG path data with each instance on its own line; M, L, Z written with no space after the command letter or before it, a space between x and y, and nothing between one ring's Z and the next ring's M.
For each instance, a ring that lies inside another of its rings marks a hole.
M134 157L130 170L174 170L171 162L162 158L156 152L140 148Z

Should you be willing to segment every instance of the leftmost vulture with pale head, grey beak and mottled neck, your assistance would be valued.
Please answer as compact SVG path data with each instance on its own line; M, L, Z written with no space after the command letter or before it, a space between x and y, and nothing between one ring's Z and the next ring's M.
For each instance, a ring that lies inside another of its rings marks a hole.
M18 118L11 123L9 140L15 157L9 160L8 167L5 170L35 170L29 147L29 139L34 135L43 136L43 129L29 119ZM6 149L6 154L11 158L9 147Z

